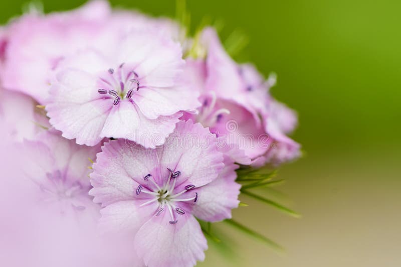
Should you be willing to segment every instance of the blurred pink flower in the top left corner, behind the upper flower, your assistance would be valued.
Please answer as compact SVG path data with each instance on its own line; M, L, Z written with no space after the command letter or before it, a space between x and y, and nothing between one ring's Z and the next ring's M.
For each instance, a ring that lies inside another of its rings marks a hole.
M29 13L12 21L5 29L3 86L43 104L48 97L49 74L65 56L88 45L102 47L114 39L101 31L109 13L107 2L93 1L71 12Z

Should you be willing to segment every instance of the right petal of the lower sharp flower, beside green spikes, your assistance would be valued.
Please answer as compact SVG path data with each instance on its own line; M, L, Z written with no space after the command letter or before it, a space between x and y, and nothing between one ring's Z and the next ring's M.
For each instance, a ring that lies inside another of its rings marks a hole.
M205 221L221 221L231 218L231 210L238 207L241 185L237 184L238 165L225 161L219 177L203 187L197 188L198 199L193 205L192 214Z

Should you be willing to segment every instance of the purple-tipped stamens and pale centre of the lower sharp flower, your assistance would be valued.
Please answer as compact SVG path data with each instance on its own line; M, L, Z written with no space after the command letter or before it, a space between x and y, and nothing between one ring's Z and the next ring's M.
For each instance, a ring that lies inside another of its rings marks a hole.
M141 204L141 206L145 206L147 204L158 202L159 206L156 211L156 216L159 216L163 211L168 210L171 216L171 220L169 221L170 224L177 223L177 218L175 214L183 215L185 211L178 207L179 202L196 202L198 198L198 194L195 192L189 198L183 198L181 195L187 193L188 191L195 188L194 185L186 185L184 189L178 193L173 193L175 189L175 182L176 178L181 175L180 171L173 171L167 168L169 171L169 175L167 181L164 183L162 187L160 187L153 179L151 174L146 175L143 180L150 181L154 186L155 189L145 188L143 185L139 185L136 188L136 194L139 195L141 193L145 193L151 195L152 198L149 201Z

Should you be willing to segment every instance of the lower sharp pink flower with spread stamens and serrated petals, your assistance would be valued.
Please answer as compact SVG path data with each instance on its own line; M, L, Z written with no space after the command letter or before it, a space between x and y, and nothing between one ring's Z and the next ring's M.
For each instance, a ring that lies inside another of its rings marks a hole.
M156 149L111 141L93 168L90 194L105 207L101 228L131 236L150 267L203 260L207 242L194 216L230 218L239 203L237 166L218 152L216 137L192 121L177 123Z

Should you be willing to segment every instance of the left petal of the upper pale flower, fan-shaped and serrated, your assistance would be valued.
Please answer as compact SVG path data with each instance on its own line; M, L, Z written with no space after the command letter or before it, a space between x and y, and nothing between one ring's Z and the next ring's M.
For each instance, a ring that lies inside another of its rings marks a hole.
M63 137L75 138L77 144L98 144L113 100L99 95L96 77L86 72L62 71L57 80L46 105L50 123L63 132Z

